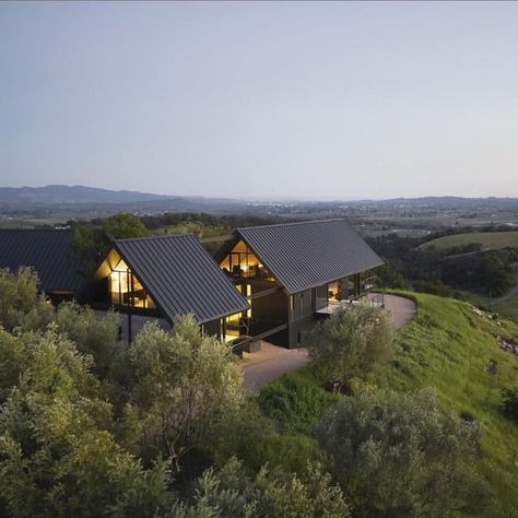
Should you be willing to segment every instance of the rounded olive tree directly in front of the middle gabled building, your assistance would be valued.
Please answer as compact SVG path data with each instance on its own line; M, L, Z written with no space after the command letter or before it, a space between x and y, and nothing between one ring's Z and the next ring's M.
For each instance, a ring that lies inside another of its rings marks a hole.
M244 400L231 349L201 334L190 316L179 317L172 333L146 325L130 345L129 364L133 435L167 458L200 445Z

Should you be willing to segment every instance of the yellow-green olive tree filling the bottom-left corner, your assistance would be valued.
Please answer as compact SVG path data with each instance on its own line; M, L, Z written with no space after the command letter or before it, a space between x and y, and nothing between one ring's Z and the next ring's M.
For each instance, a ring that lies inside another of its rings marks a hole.
M55 326L7 334L19 379L0 412L0 515L152 516L166 505L167 463L144 469L118 445L91 356Z

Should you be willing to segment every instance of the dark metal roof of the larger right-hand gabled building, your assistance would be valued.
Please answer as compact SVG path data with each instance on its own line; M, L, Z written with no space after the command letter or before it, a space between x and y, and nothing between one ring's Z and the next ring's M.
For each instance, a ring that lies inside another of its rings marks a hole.
M251 226L236 233L290 293L384 263L345 220Z

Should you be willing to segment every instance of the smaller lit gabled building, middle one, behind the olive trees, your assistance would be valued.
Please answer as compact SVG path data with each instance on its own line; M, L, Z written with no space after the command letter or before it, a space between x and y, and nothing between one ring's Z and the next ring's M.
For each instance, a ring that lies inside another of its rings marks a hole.
M192 235L116 239L95 272L96 302L164 317L191 314L222 334L225 318L248 303Z

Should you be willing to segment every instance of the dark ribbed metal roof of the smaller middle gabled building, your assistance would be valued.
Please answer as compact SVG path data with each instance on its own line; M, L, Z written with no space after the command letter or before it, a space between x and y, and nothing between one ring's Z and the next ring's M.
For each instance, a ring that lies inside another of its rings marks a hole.
M192 235L117 239L115 248L169 320L191 314L203 323L248 308Z

